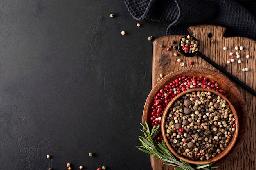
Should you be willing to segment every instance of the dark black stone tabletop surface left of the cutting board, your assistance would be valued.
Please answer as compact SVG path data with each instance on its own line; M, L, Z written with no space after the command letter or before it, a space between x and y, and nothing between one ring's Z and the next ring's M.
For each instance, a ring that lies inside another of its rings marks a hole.
M1 170L151 169L135 146L167 24L137 22L122 0L0 1Z

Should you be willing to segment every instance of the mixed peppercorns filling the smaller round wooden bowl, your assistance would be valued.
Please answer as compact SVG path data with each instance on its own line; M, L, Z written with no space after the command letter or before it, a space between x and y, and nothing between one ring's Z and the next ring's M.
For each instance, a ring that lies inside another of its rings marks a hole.
M227 101L205 91L177 99L165 121L169 144L191 160L215 157L228 146L235 130L235 118Z

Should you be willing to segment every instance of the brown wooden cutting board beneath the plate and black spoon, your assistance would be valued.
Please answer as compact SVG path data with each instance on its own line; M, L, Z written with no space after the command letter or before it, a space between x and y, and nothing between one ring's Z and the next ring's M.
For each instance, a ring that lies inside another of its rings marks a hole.
M215 63L225 68L228 72L236 76L238 79L243 81L246 85L256 90L256 41L245 38L245 37L223 37L225 28L213 25L200 25L192 26L188 28L189 34L193 35L200 41L200 52L205 54ZM166 76L177 70L185 68L200 67L208 68L220 73L209 63L201 59L199 56L184 57L177 52L173 46L177 47L178 41L184 35L168 35L156 39L153 43L153 65L152 65L152 88L158 82L157 79L160 74ZM174 41L174 43L173 43ZM227 47L227 50L223 50L223 47ZM235 47L243 47L243 50L235 50ZM167 48L170 48L167 51ZM233 53L234 62L227 64L229 53ZM240 54L241 63L238 63L236 58L236 52ZM177 56L176 56L176 54ZM246 58L249 55L249 59ZM184 63L181 66L181 62L177 62L180 59ZM190 65L190 62L193 65ZM242 71L242 68L248 68L249 71ZM234 82L233 82L234 83ZM229 155L229 159L219 162L220 166L218 170L249 170L255 169L256 167L256 97L247 92L245 89L236 85L238 91L243 97L242 101L245 101L245 113L242 114L243 124L240 126L242 129L241 139L239 144L236 145L235 150ZM244 103L242 103L244 104ZM239 105L239 103L238 103ZM246 113L247 109L247 113ZM249 122L247 128L247 120ZM246 129L247 128L247 129ZM239 131L240 132L240 131ZM247 135L245 135L247 134ZM244 139L244 141L243 141ZM151 166L153 170L173 170L172 166L165 166L162 161L158 159L150 158Z

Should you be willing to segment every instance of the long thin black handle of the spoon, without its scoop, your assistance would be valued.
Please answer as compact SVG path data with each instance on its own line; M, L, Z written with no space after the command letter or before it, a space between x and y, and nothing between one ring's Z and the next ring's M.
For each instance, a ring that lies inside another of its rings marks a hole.
M236 78L235 76L233 76L232 74L230 74L229 72L227 72L225 69L223 69L222 67L220 67L220 65L214 63L211 59L209 59L208 57L206 57L204 54L202 54L201 52L197 52L197 54L199 55L199 57L201 57L202 59L204 59L205 61L207 61L209 64L211 64L213 67L215 67L216 69L218 69L220 72L222 72L223 74L225 74L227 77L229 77L231 80L235 81L237 84L239 84L240 86L242 86L244 89L246 89L248 92L252 93L254 96L256 96L256 92L251 89L249 86L247 86L245 83L243 83L242 81L240 81L238 78Z

